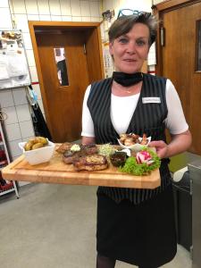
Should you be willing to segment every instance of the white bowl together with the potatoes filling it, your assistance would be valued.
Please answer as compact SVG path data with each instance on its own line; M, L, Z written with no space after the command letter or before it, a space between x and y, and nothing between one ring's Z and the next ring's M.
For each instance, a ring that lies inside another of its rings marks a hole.
M29 138L27 142L20 142L19 147L29 164L48 162L54 154L55 145L48 138Z

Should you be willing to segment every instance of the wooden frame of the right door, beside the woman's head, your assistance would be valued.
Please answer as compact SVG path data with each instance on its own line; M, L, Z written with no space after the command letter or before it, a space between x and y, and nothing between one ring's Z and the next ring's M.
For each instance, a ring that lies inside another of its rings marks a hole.
M156 65L155 74L163 76L163 54L161 46L161 28L163 28L163 13L178 9L183 6L200 3L201 0L166 0L163 3L152 6L155 18L159 21L156 38Z

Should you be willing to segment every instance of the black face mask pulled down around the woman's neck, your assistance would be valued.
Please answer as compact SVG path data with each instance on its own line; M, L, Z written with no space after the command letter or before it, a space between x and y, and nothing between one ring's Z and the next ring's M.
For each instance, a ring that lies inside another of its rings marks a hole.
M143 80L142 72L125 73L121 71L113 71L113 80L123 87L130 87Z

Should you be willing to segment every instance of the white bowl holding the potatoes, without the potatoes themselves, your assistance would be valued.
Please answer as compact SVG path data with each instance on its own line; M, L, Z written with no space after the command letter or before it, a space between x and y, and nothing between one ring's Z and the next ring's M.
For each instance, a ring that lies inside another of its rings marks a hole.
M20 142L19 147L21 148L23 154L25 155L25 159L29 162L29 164L34 165L38 163L46 163L50 160L50 158L54 154L55 145L52 141L48 141L48 144L45 147L41 147L38 149L25 151L24 146L26 142Z

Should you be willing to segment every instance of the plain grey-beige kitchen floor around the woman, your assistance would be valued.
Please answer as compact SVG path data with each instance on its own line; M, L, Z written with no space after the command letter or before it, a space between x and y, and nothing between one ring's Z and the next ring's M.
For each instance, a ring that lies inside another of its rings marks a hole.
M0 198L0 224L2 268L96 267L96 187L23 186L20 199ZM191 268L188 251L178 246L163 268Z

